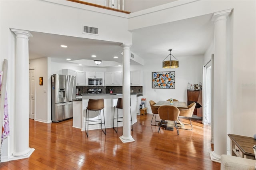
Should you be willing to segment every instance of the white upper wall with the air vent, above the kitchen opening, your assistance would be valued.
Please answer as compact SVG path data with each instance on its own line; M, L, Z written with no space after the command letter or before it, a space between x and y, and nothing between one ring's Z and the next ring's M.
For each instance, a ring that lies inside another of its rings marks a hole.
M118 16L41 0L2 1L1 12L9 28L132 44L128 21ZM98 28L98 35L82 34L84 25Z

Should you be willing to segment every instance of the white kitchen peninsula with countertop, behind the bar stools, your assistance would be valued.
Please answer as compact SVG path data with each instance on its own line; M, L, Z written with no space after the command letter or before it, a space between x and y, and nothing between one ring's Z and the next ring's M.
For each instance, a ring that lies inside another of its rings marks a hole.
M117 103L118 98L122 98L122 93L94 93L94 94L82 94L79 96L80 99L73 100L73 127L80 128L81 131L85 130L85 115L86 107L89 99L104 99L104 115L106 128L113 127L113 114L114 106ZM132 112L132 123L137 122L136 113L136 93L131 93L131 112ZM103 112L102 112L103 113ZM118 115L122 114L122 110L118 110ZM98 119L98 112L90 112L89 119ZM122 127L122 122L118 123L118 127ZM100 129L100 125L91 125L89 130Z

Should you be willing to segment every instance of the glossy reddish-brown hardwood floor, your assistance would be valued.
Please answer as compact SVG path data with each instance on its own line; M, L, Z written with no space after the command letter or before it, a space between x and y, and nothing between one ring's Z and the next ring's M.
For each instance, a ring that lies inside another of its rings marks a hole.
M192 120L193 130L174 131L150 126L152 114L137 116L132 137L135 142L122 143L122 127L85 131L72 128L72 119L59 123L40 123L30 119L30 158L0 163L1 170L219 170L209 152L210 128ZM188 120L181 119L185 123Z

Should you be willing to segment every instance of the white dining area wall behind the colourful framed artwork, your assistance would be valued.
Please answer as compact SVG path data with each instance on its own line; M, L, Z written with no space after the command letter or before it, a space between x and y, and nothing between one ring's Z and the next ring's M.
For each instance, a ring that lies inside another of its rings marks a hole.
M177 57L177 56L176 56ZM143 68L143 95L146 97L146 105L148 113L152 113L149 101L155 102L167 100L171 97L179 101L187 102L187 86L190 84L202 83L202 65L203 56L182 56L177 57L179 67L176 69L163 69L162 60L145 60ZM153 89L152 88L152 72L175 71L175 89Z

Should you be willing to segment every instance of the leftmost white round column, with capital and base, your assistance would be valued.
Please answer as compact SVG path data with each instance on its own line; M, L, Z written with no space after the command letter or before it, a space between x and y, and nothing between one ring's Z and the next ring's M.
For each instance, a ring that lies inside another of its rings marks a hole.
M15 132L14 152L11 160L28 158L34 148L29 142L29 66L28 38L32 34L24 30L11 29L16 34L16 66L15 66Z

